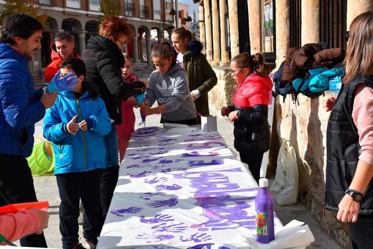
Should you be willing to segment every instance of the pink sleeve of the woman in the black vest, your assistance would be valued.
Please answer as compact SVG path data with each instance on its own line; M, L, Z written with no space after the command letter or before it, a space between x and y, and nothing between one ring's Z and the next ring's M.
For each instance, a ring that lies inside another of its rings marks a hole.
M373 89L365 84L356 88L352 118L359 134L359 159L373 165Z

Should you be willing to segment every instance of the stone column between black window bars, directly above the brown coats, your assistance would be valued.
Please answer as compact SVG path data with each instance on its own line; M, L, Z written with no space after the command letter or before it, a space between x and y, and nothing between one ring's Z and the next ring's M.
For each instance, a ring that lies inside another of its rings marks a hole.
M276 8L279 5L276 3ZM319 0L302 0L302 46L307 43L320 41L319 8ZM276 24L277 27L278 25Z

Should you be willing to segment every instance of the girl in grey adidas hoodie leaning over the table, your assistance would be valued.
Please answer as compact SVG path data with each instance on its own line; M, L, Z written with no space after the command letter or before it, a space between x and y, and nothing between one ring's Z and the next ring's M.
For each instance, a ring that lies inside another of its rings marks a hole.
M147 105L140 107L140 113L161 113L161 123L197 124L187 76L183 67L176 64L171 45L156 45L152 50L152 60L156 70L149 77L149 87L145 95ZM155 101L158 107L152 107Z

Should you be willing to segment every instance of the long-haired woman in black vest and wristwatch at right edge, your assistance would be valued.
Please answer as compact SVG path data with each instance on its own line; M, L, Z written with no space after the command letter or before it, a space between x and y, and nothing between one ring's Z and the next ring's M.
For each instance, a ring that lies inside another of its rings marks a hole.
M353 249L372 249L373 11L357 16L349 34L342 89L325 105L332 112L326 134L324 207L348 222Z

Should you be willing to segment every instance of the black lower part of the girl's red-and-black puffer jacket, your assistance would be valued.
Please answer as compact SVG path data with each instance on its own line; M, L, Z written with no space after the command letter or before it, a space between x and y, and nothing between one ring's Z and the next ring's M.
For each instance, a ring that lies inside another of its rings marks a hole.
M268 106L257 105L249 108L233 106L239 110L234 121L234 147L239 152L265 152L269 150L271 129L268 123Z

